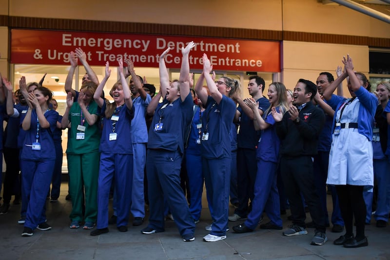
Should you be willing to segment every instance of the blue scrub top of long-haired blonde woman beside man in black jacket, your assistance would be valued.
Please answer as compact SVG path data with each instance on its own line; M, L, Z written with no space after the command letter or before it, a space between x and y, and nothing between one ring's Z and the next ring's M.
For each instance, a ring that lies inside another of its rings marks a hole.
M280 107L276 107L276 111L280 112ZM257 159L278 162L280 139L276 134L275 120L271 111L268 115L263 114L263 118L270 127L261 131L261 139L256 150Z

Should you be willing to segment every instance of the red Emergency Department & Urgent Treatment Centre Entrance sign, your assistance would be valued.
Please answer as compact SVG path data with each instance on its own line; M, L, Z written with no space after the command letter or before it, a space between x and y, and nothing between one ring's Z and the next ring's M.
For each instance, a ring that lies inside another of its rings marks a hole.
M68 65L69 53L80 47L90 65L103 66L129 57L137 67L158 67L168 47L168 68L180 68L181 47L193 40L190 68L202 69L206 53L215 70L280 72L280 43L199 37L11 30L11 63Z

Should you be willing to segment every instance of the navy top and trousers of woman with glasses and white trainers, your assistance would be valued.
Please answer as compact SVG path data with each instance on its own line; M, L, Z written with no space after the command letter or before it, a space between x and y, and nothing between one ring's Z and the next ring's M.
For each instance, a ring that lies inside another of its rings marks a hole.
M235 104L230 98L223 96L217 104L209 97L202 122L202 167L213 220L210 234L219 237L225 236L228 224L234 113Z

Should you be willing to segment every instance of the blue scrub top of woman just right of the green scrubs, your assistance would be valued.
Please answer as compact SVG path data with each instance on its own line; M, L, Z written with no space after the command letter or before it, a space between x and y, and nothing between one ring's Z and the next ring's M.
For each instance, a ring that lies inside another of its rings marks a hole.
M103 118L103 132L101 134L99 152L107 154L133 154L133 143L130 135L131 120L134 117L134 106L128 109L126 104L117 107L113 116L119 119L107 119L104 115L107 103L103 102L101 117ZM110 141L110 134L117 133L117 140Z

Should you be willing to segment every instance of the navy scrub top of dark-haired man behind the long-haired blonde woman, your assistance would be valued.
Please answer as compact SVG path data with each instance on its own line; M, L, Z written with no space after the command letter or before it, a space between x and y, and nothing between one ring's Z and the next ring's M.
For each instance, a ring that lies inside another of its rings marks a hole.
M259 102L259 109L263 112L268 109L270 102L266 98L256 100ZM253 120L251 120L242 108L239 106L237 110L241 113L240 131L238 133L237 144L239 148L255 149L259 141L261 132L254 130Z

